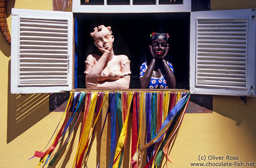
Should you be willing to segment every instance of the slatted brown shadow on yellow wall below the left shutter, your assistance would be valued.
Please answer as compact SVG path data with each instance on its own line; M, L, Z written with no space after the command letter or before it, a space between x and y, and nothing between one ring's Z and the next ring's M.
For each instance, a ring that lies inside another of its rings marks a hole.
M49 94L10 94L8 65L7 144L50 114Z

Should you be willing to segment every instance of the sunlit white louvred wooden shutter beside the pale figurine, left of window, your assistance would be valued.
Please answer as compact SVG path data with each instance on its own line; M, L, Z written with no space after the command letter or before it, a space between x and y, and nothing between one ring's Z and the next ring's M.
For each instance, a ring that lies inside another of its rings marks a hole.
M12 9L11 93L72 89L71 12Z

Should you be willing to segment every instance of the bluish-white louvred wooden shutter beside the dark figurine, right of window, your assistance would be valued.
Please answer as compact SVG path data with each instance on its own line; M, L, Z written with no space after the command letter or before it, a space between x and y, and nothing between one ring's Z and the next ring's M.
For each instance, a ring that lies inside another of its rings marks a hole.
M191 13L193 94L255 96L255 9Z

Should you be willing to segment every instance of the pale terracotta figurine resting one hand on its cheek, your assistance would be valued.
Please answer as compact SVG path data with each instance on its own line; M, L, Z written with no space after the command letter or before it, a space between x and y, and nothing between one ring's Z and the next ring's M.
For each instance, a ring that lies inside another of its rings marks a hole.
M128 89L130 61L126 55L115 55L111 27L100 25L91 36L102 55L88 55L85 64L85 83L88 89Z

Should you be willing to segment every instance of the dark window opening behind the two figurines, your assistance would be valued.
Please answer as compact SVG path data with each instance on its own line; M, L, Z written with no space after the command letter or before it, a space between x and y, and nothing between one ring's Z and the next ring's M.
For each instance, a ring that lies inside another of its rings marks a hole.
M166 60L172 63L176 88L189 90L189 37L190 13L150 14L75 14L77 56L77 88L85 86L85 60L91 54L102 54L90 36L95 26L111 26L116 55L125 54L130 60L130 89L140 88L139 67L149 53L150 34L164 32L170 35Z

